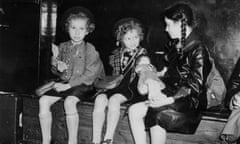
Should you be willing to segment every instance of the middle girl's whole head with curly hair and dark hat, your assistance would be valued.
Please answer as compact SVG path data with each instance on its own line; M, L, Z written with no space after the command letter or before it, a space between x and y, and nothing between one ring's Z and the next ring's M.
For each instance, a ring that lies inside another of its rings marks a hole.
M119 20L114 26L114 34L117 45L128 49L137 48L144 37L143 27L135 18Z

